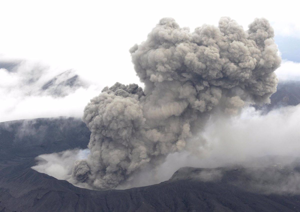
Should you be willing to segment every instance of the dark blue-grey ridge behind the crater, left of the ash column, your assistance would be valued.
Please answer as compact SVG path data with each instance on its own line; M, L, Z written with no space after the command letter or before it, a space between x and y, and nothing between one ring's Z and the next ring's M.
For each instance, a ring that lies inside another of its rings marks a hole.
M19 154L36 157L67 149L87 148L90 135L91 132L79 118L37 118L1 122L0 159Z

